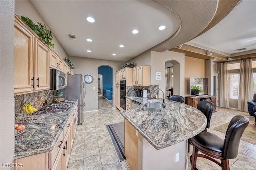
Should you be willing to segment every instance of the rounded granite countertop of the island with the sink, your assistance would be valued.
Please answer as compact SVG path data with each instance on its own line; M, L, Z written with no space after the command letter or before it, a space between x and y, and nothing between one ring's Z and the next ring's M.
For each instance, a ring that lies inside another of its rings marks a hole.
M162 111L150 112L142 111L148 98L127 98L142 104L137 109L121 111L121 115L157 150L190 139L206 127L205 115L187 104L165 100Z

